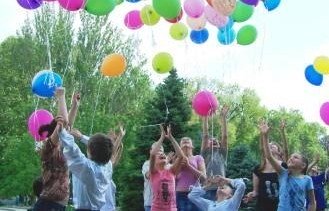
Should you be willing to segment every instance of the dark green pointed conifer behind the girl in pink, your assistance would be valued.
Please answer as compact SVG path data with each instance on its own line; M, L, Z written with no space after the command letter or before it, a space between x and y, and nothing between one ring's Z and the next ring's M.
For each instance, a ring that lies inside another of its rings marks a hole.
M159 84L154 97L145 103L143 125L138 128L138 136L129 154L132 163L126 163L126 172L121 180L129 186L122 186L121 207L123 210L143 210L143 162L149 158L149 150L160 135L161 123L171 124L173 135L186 136L191 116L190 103L184 95L186 83L179 78L176 70ZM134 199L134 200L131 200ZM129 202L129 203L128 203Z

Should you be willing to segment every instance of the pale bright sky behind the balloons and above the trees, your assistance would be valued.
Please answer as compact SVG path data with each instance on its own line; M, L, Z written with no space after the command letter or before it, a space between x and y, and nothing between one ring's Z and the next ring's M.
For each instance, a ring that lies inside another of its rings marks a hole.
M298 109L306 121L325 126L319 110L329 101L329 76L324 77L321 86L313 86L306 81L304 70L317 56L329 56L328 0L281 0L279 7L270 12L260 3L250 20L233 27L236 31L246 24L257 28L257 40L249 46L219 44L217 29L210 24L206 25L209 39L200 45L189 37L184 41L170 38L170 25L164 20L154 27L126 28L125 14L146 4L151 1L124 2L110 18L125 35L142 40L140 51L149 59L147 68L156 83L167 74L152 71L152 57L165 51L174 58L181 77L206 77L253 88L267 108ZM23 9L15 0L2 2L0 10L0 41L14 35L24 19L35 12ZM182 20L185 22L184 16Z

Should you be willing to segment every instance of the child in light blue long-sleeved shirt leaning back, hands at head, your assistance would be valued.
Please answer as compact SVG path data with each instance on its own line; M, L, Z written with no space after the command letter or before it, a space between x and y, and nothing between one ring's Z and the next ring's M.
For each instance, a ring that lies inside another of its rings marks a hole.
M202 211L238 211L246 185L242 179L229 179L215 176L208 179L208 185L217 186L216 200L208 200L202 196L205 190L201 187L193 187L188 198ZM233 193L233 189L235 189Z

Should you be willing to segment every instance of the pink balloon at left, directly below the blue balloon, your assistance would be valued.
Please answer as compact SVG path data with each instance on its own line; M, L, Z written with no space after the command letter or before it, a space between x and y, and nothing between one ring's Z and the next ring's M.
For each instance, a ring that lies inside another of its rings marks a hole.
M49 124L54 119L53 115L44 109L39 109L34 111L27 121L28 130L30 135L36 141L45 140L47 138L47 134L39 135L39 128L42 125Z

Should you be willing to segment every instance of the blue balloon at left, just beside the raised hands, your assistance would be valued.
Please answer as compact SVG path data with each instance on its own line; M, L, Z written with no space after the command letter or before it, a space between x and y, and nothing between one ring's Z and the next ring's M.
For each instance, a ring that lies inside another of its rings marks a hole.
M39 97L51 98L56 87L62 86L62 78L51 70L38 72L32 80L32 92Z

